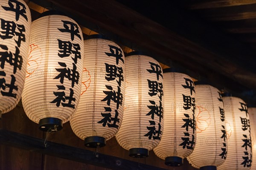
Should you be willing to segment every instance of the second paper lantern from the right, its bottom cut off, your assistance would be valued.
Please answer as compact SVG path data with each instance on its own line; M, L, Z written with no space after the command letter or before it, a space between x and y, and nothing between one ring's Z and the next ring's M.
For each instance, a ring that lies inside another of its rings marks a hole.
M251 138L247 105L238 97L224 96L228 154L218 170L250 170Z

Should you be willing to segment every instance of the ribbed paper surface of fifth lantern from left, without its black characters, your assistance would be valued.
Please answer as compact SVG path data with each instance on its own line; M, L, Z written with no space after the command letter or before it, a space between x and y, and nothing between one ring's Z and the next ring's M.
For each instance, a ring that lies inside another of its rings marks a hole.
M192 82L191 86L194 87L192 79L182 73L164 73L164 105L165 105L165 115L164 115L164 130L163 137L160 144L154 148L154 153L161 159L165 159L168 156L177 156L180 158L186 158L189 156L195 144L187 144L187 146L181 145L184 141L182 138L188 137L189 141L193 141L192 135L194 135L194 142L196 142L196 134L191 127L183 127L186 123L183 119L192 119L193 121L193 102L190 102L191 108L185 110L186 102L184 102L184 96L190 96L191 99L195 99L195 89L191 91L189 88L184 88L183 85L190 86L189 82ZM187 79L187 81L186 81ZM188 103L189 104L189 103ZM186 117L186 114L188 117ZM189 133L189 136L184 136L184 133Z

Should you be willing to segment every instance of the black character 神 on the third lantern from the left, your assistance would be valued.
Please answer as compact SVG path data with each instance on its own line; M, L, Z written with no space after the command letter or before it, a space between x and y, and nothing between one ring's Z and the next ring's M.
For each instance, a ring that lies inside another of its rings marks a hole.
M117 92L113 90L110 85L105 85L108 90L111 91L103 91L107 96L101 101L107 101L107 105L110 105L111 100L116 103L116 109L119 108L119 105L122 105L123 95L121 93L121 89L117 86Z

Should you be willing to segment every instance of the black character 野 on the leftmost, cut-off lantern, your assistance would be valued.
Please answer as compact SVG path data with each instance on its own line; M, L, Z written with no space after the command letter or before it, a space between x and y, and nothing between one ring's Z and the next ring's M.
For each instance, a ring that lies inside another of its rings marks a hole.
M21 41L26 42L26 37L23 32L25 32L25 27L23 25L17 24L13 21L6 21L4 19L1 20L1 29L0 31L0 38L3 40L11 39L15 35L17 36L17 40L15 40L18 47L20 47ZM16 31L16 28L18 31Z

